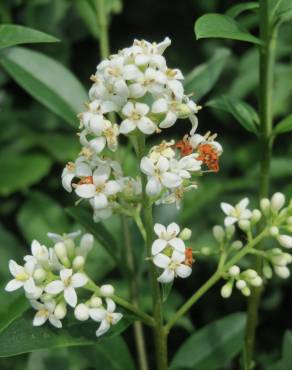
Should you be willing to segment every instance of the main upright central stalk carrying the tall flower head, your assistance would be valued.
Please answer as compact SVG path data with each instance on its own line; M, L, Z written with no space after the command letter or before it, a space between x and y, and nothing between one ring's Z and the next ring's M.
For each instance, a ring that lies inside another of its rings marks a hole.
M136 153L141 162L145 155L145 136L138 133L137 136ZM146 194L146 175L141 171L142 181L142 196L143 196L143 224L146 231L146 250L147 257L151 257L151 246L153 243L153 218L152 218L152 202ZM157 273L152 262L149 263L149 271L152 286L152 302L153 302L153 317L155 321L154 338L156 349L156 366L158 370L167 370L167 334L163 325L162 314L162 299L160 294L159 284L157 282Z

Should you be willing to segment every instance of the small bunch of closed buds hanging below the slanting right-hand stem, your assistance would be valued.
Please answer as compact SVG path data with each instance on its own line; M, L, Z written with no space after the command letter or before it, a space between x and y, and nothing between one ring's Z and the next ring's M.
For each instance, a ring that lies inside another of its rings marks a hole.
M255 270L248 269L241 272L237 265L230 267L226 279L228 279L227 283L221 288L223 298L231 296L234 284L246 297L251 293L250 287L259 287L263 284L263 279Z

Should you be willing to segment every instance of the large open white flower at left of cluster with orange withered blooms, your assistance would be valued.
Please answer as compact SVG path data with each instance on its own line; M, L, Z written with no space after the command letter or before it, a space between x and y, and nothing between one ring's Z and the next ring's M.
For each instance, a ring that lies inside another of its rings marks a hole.
M146 192L150 196L157 196L166 188L176 188L182 182L178 174L170 171L169 161L165 157L160 157L157 163L154 163L148 157L143 157L140 164L141 170L148 176Z

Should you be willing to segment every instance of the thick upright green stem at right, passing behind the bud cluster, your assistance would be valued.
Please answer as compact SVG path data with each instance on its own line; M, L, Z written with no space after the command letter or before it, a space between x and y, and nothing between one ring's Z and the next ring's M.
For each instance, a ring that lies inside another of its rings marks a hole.
M272 155L273 129L273 79L275 63L276 32L270 24L269 1L260 0L260 86L259 86L259 113L260 113L260 185L259 197L268 196L270 181L270 161ZM259 273L262 266L262 257L256 257L256 271ZM248 300L247 324L245 333L244 366L245 370L252 368L253 351L255 344L258 309L261 298L261 287L254 287Z

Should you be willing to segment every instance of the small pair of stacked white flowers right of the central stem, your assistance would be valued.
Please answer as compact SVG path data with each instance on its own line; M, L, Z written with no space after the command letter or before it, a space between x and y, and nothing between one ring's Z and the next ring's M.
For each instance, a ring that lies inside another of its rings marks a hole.
M191 232L180 228L176 223L167 227L154 225L157 239L152 244L151 253L155 266L163 269L158 277L160 283L171 283L175 277L187 278L192 273L192 249L186 248L183 239L189 239Z

